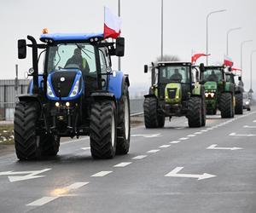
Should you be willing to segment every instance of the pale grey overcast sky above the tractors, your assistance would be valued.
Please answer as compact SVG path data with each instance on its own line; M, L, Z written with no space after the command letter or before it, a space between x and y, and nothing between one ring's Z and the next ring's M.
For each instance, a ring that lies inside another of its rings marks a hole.
M38 38L44 27L49 32L102 32L103 7L117 13L117 0L2 0L0 1L0 78L14 78L15 63L23 72L32 66L17 59L17 39L30 34ZM230 34L230 56L240 67L240 43L253 39L244 46L244 81L248 88L250 52L256 49L255 0L164 0L164 53L190 60L192 49L205 52L206 16L216 9L227 9L212 14L209 19L209 52L212 63L222 62L226 51L226 32L241 26ZM131 85L148 83L143 64L160 55L160 0L121 0L122 34L125 37L125 58L122 70L130 74ZM205 62L199 60L198 62ZM253 57L253 82L256 80L256 54ZM254 85L256 91L256 85Z

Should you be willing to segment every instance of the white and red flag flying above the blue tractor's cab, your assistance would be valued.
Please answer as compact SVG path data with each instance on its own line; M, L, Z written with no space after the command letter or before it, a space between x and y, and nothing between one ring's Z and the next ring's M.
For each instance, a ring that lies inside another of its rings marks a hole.
M117 38L121 33L122 20L107 7L104 8L104 38Z

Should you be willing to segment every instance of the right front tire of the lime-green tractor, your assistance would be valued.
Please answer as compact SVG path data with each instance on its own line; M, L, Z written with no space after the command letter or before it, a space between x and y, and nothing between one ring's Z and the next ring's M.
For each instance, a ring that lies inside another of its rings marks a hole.
M193 96L188 102L188 114L189 127L201 127L202 121L202 109L201 109L201 97Z

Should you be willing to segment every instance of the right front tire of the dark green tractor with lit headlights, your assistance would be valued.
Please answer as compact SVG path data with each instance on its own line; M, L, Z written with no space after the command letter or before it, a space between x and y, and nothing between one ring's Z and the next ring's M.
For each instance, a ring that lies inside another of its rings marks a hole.
M223 93L220 96L219 105L221 111L221 118L234 117L233 98L230 93Z

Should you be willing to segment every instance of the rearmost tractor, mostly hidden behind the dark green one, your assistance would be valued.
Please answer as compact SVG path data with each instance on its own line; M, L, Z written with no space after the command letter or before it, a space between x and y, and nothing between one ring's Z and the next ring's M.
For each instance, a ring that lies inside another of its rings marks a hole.
M225 72L225 76L226 76L227 82L233 83L235 85L235 97L236 97L235 114L241 115L243 113L242 93L244 91L241 83L241 76L238 76L233 72Z

